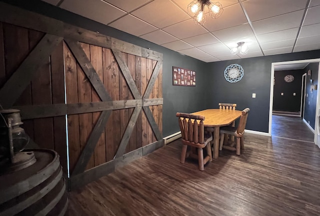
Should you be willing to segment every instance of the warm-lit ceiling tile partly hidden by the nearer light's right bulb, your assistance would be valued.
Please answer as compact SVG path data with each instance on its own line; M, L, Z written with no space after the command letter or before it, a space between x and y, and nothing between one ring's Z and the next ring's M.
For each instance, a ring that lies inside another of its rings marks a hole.
M222 4L222 2L221 2ZM239 3L223 9L220 17L212 19L207 16L204 27L209 31L216 31L228 27L233 27L248 22Z

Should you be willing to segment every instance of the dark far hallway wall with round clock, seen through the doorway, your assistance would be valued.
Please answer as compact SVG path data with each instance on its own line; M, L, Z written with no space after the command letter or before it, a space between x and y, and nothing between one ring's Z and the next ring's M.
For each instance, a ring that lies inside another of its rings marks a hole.
M274 71L273 111L300 112L303 73L304 70L302 69ZM284 77L286 75L292 75L294 80L292 82L285 82Z

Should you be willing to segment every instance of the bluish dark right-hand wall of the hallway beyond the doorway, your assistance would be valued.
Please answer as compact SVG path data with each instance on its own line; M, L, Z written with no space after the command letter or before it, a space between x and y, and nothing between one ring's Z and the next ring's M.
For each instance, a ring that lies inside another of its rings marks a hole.
M308 64L303 72L307 74L307 71L310 69L311 70L311 77L306 75L306 86L305 86L305 105L304 105L304 120L309 123L311 128L314 129L314 124L315 124L315 109L316 109L316 98L317 98L317 93L318 90L310 90L311 82L310 78L312 79L313 85L318 84L318 68L319 68L319 63L310 63Z

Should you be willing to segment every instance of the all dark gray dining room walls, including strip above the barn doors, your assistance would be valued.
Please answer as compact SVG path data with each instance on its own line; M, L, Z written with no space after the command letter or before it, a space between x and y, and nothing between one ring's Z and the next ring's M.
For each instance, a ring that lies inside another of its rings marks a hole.
M217 108L219 102L236 103L239 110L249 107L246 129L267 132L271 62L320 57L320 50L315 50L205 63L40 0L0 1L163 53L163 136L179 131L176 112ZM223 71L233 63L243 67L244 76L239 82L231 84L225 81ZM172 86L172 66L196 71L196 87ZM252 98L252 93L256 93L256 98Z

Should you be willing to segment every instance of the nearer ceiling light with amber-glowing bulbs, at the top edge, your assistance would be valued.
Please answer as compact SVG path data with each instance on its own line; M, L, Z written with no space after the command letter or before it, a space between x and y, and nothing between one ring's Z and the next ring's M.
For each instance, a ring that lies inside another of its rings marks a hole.
M207 7L209 16L211 18L218 18L223 8L220 2L211 2L210 0L193 0L187 7L187 12L192 16L193 21L197 25L203 25L205 22L205 7Z

